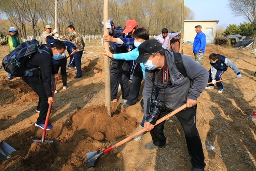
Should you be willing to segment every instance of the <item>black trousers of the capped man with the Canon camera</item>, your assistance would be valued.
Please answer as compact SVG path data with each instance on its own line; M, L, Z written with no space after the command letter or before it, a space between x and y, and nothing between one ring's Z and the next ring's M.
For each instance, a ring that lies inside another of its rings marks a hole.
M193 167L203 169L204 163L204 152L202 148L202 142L200 135L196 128L196 107L197 105L186 108L176 114L176 117L180 121L182 128L185 133L186 143L188 147L188 153L191 156ZM164 117L169 112L161 112L158 119ZM166 137L164 136L164 123L159 123L150 131L154 145L163 146L166 144Z

